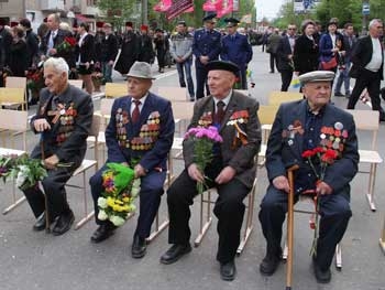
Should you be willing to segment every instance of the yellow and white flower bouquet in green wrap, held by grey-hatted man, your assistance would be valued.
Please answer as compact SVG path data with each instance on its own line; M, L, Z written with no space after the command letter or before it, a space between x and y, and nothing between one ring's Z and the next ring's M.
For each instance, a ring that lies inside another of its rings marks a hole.
M107 163L107 167L101 175L103 192L98 198L98 218L121 226L136 210L133 201L140 193L141 180L134 179L134 171L127 165Z

